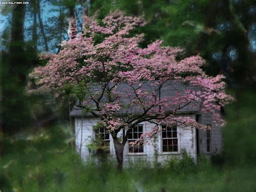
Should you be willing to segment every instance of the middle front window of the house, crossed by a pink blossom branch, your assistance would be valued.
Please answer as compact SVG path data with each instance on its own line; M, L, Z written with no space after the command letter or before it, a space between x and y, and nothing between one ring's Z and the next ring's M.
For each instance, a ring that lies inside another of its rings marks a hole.
M142 133L143 133L143 125L138 125L130 130L130 133L128 135L129 152L131 153L144 152L143 143L139 145L134 145L134 146L130 144L130 142L134 142L138 138L140 138L140 135Z

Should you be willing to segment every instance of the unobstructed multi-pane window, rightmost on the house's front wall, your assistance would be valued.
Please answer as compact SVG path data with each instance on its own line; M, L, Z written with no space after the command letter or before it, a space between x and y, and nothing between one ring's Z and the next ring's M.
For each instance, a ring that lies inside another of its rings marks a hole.
M163 152L178 151L177 125L162 126L162 150Z

